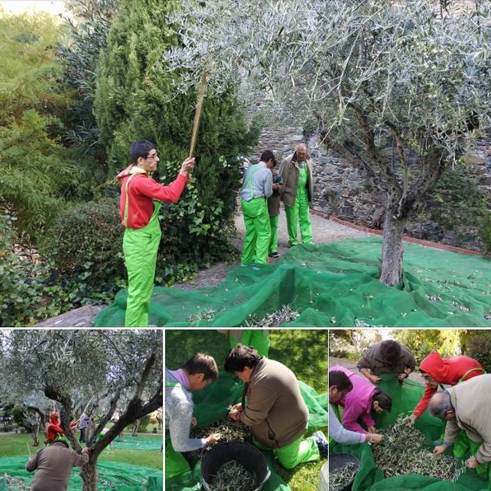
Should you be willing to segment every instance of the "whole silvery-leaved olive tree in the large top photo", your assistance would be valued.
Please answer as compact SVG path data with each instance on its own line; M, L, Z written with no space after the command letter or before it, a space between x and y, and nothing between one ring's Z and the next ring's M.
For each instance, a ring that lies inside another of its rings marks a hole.
M242 77L248 97L316 114L383 198L393 286L408 215L490 122L490 3L467 3L188 0L172 17L183 47L163 59L185 72L176 92L208 70L217 93Z

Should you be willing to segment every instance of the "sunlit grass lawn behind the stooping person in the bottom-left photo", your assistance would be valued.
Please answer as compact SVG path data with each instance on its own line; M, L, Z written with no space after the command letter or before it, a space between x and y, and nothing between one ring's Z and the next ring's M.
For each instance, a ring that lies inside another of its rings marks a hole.
M31 455L42 449L42 446L32 446L31 435L0 435L0 458L27 457L29 455L27 453L28 443L31 448ZM108 447L102 452L99 460L163 469L162 453L158 450L111 449Z

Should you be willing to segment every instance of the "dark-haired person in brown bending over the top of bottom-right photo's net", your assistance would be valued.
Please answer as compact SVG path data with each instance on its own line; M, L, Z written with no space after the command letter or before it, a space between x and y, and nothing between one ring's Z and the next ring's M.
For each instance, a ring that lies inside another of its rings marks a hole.
M366 350L357 363L360 373L373 384L380 382L378 375L387 373L396 374L402 382L410 376L415 366L416 360L412 352L405 345L401 345L392 339L375 343Z

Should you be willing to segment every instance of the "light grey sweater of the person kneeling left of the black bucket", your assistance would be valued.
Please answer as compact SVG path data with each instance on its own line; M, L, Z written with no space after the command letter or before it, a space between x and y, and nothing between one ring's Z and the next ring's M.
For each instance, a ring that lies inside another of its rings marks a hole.
M178 384L167 368L165 383ZM171 435L172 448L176 452L189 452L201 449L201 438L189 438L189 428L193 417L193 397L191 392L180 384L165 387L165 429Z

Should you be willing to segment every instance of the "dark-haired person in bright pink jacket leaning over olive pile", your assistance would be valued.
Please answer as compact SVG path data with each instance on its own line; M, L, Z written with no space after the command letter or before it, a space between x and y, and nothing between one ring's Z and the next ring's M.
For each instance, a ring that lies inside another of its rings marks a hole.
M353 384L352 390L338 403L338 405L344 407L343 426L348 430L359 433L375 432L372 411L390 411L392 400L389 394L382 392L378 387L368 382L366 378L360 377L343 366L332 366L329 368L329 372L331 371L344 372ZM359 423L359 419L365 423L366 430Z

